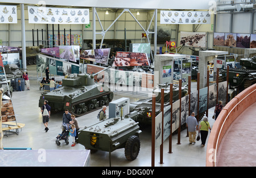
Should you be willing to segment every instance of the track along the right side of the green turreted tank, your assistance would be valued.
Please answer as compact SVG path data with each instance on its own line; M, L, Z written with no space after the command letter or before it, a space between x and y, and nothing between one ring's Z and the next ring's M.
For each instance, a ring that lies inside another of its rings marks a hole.
M86 98L85 100L77 101L77 102L75 102L75 103L73 103L73 104L71 105L71 107L74 107L74 106L75 106L75 111L69 111L69 112L70 112L71 114L75 115L76 117L80 117L80 116L82 116L82 115L85 115L85 114L88 114L88 113L92 113L93 111L96 111L96 110L100 109L101 105L98 104L98 106L97 106L97 107L93 107L93 109L88 109L88 108L87 108L87 111L86 111L86 112L82 111L81 113L77 113L77 110L78 110L78 109L81 109L80 104L85 103L85 106L88 107L89 104L92 104L92 102L90 102L90 101L92 101L92 100L97 100L97 103L98 103L98 102L100 102L100 101L98 101L98 99L101 98L101 97L104 97L104 96L107 96L109 102L111 102L111 101L113 100L113 97L111 96L112 94L113 94L113 92L107 92L107 93L100 94L100 95L95 96L95 97ZM113 96L114 96L114 94L113 94ZM108 102L108 104L104 104L104 105L105 105L105 106L108 106L108 105L109 105L109 102ZM95 105L94 105L94 106L95 106Z

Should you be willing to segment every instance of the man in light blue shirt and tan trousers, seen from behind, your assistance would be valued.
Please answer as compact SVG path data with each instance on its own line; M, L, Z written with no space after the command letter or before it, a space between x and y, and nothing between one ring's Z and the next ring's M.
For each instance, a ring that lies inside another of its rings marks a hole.
M196 143L196 130L198 130L198 122L195 118L195 113L191 113L191 115L186 120L186 125L188 128L188 138L189 144Z

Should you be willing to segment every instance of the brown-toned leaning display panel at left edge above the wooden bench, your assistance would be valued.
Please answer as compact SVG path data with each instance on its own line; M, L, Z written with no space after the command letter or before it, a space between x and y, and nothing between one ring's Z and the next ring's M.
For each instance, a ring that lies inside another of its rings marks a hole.
M2 122L10 122L16 120L13 103L11 100L2 100L1 116Z

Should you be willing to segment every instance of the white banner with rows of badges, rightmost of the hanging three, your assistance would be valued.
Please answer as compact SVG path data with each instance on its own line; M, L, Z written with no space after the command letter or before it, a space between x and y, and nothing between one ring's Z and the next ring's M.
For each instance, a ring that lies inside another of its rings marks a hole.
M160 11L160 24L210 24L208 11Z

